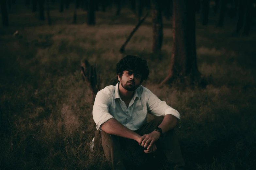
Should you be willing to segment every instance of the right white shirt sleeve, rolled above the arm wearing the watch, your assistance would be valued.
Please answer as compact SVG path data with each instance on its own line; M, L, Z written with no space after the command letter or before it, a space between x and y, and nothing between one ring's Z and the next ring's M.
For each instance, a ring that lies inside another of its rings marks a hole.
M147 91L147 108L150 114L155 116L173 115L180 119L180 113L168 106L165 101L160 100L150 90Z

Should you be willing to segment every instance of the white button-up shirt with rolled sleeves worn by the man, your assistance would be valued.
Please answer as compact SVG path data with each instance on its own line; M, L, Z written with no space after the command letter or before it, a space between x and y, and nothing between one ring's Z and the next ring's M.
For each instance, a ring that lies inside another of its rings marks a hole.
M115 118L128 129L135 131L147 123L147 114L165 116L171 114L180 119L177 110L161 101L149 89L140 85L135 91L127 108L125 102L119 95L119 83L106 86L100 90L94 101L92 116L101 131L101 125Z

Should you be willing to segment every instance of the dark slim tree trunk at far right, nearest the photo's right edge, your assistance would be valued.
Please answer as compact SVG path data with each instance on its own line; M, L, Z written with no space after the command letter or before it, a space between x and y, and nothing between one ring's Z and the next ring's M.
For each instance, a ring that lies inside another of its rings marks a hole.
M253 2L252 0L247 0L246 4L246 17L245 17L245 26L244 26L244 36L248 36L250 32L251 20L253 13Z

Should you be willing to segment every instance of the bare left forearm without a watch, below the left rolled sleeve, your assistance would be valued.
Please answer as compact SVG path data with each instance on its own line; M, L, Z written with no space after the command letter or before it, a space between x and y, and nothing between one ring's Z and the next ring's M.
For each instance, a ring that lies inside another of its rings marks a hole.
M101 130L108 134L114 134L128 139L134 139L136 141L141 137L134 131L123 126L117 119L111 118L101 125Z

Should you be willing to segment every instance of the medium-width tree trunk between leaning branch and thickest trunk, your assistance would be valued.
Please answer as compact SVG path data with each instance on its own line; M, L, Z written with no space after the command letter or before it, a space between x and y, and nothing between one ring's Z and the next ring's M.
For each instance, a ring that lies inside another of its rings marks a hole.
M151 0L153 44L152 53L159 54L163 44L163 22L161 4L158 0Z

